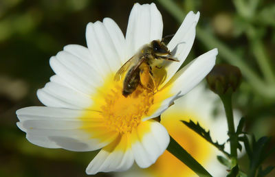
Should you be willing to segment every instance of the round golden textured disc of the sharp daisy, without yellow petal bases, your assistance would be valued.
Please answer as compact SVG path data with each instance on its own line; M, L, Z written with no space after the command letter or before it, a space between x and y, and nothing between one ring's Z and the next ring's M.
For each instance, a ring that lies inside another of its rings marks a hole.
M136 128L142 116L148 113L154 97L151 91L137 86L131 95L122 95L122 86L116 84L104 96L105 104L101 106L101 115L107 127L122 134Z

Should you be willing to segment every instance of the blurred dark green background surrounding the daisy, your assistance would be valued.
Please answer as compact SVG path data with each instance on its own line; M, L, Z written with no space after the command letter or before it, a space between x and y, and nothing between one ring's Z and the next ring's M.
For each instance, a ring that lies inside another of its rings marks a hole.
M90 21L111 17L125 34L136 2L156 3L164 36L175 34L188 11L200 11L197 38L186 61L217 47L217 62L236 65L243 73L234 108L245 116L246 130L256 137L274 136L274 0L0 0L0 176L87 176L85 168L95 152L32 145L17 128L15 111L41 105L36 90L54 74L50 56L68 44L85 46L85 27ZM274 165L274 157L265 165ZM244 165L246 161L244 157Z

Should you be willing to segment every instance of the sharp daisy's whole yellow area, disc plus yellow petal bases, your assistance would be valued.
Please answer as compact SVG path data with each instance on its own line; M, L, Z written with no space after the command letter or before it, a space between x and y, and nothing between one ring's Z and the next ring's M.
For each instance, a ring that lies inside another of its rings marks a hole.
M170 86L151 91L139 84L133 93L125 97L122 95L123 81L115 81L114 73L111 73L91 95L93 104L80 117L83 121L81 128L91 137L100 139L107 130L119 134L131 133L144 117L153 115L162 106L163 100L172 96Z

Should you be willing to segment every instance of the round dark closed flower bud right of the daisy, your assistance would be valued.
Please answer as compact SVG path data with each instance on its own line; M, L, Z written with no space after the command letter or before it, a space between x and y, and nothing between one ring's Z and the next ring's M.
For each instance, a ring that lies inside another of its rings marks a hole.
M216 64L206 80L210 89L218 95L233 93L241 84L241 71L230 64Z

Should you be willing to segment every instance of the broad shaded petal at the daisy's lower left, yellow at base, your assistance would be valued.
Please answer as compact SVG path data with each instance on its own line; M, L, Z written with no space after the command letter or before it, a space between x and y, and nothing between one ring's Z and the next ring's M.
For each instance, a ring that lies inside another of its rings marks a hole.
M117 133L100 127L101 119L95 111L83 115L80 110L28 107L17 110L17 116L20 120L17 125L27 133L27 139L42 147L98 150L118 137Z

